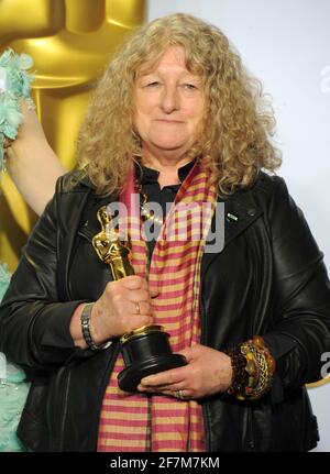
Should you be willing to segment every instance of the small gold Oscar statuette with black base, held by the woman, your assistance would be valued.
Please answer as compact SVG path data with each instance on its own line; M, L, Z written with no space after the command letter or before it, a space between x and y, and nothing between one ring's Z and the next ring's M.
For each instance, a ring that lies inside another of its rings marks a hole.
M111 228L106 206L97 213L101 231L92 238L92 246L99 258L110 266L114 280L134 275L131 264L131 244L120 238ZM173 354L168 342L169 334L162 326L143 326L120 338L125 368L118 375L119 387L124 392L136 392L143 377L169 368L186 365L186 359Z

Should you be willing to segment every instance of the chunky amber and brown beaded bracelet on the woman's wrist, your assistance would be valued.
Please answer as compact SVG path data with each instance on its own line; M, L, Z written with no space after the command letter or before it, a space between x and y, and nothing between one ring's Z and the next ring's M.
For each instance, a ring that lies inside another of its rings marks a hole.
M239 400L257 400L270 390L276 363L260 335L224 352L233 371L228 394Z

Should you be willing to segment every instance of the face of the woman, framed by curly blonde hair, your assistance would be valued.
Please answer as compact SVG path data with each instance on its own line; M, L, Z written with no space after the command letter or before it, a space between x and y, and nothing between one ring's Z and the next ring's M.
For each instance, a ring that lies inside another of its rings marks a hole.
M201 78L186 68L183 47L169 47L154 69L138 74L135 108L143 150L153 156L184 156L204 118L205 92Z

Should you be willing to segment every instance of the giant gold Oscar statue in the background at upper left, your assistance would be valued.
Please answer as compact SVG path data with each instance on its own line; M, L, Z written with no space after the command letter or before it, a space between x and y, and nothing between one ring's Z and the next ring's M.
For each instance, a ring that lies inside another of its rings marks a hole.
M33 99L55 153L75 162L78 129L96 79L124 34L145 18L145 0L0 0L0 53L34 59ZM9 176L0 195L0 262L14 269L35 221Z

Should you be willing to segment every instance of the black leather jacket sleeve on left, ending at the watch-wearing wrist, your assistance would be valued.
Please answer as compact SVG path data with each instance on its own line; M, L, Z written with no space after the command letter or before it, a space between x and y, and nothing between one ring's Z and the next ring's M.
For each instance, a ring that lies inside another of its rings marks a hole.
M57 291L62 179L23 249L0 307L0 351L33 370L54 368L84 352L75 348L69 332L72 316L82 301L59 301Z

